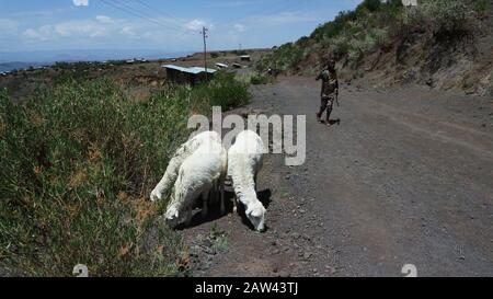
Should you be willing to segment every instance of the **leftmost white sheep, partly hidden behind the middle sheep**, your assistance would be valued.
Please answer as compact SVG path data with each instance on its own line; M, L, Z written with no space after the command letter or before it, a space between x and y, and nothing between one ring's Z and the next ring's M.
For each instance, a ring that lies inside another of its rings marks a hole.
M154 187L150 195L151 202L161 200L163 196L168 195L171 186L176 181L179 175L180 166L183 161L188 158L194 151L206 141L217 141L221 142L221 138L219 134L216 131L205 131L200 133L197 136L191 138L188 141L183 143L174 153L173 158L170 160L168 164L167 171L159 182L159 184Z

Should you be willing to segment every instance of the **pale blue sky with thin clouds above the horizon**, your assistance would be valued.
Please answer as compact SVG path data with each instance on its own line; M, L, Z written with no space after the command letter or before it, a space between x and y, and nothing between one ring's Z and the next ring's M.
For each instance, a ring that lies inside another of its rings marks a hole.
M0 53L272 47L359 0L0 0Z

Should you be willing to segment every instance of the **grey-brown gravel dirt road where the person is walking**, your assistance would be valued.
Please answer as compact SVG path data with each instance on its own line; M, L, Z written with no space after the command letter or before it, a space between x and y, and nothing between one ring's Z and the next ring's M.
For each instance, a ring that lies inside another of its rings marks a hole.
M184 230L196 276L493 275L493 102L423 88L344 87L325 127L312 78L253 88L250 105L307 115L307 161L268 156L268 230L238 215Z

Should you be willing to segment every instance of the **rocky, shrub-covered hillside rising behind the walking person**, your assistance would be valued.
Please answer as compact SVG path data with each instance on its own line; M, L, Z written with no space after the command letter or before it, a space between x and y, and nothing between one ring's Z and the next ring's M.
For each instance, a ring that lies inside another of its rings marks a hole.
M405 83L493 94L493 1L365 0L310 36L264 56L257 68L314 74L332 54L346 82L371 88Z

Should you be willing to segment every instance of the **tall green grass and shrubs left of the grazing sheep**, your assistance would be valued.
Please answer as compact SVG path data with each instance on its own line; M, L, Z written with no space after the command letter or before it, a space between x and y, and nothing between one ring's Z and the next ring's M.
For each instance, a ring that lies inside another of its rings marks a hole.
M133 101L107 79L62 83L21 105L0 93L0 267L13 275L174 276L186 246L147 196L193 113L249 101L246 85L160 90Z

